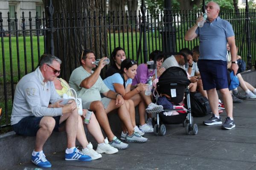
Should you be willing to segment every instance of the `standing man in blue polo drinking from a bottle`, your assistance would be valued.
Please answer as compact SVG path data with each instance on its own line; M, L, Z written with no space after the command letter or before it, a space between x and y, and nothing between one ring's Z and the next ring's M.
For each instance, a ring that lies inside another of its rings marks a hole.
M211 118L204 121L204 124L209 126L222 124L221 117L218 114L218 94L216 90L219 90L227 112L227 118L222 124L222 128L230 130L236 125L233 120L232 96L227 85L226 43L230 44L231 69L236 75L238 65L236 63L235 34L231 24L218 16L220 7L217 3L210 1L206 9L207 20L204 26L198 27L198 23L204 20L202 16L198 17L196 24L186 32L185 40L194 40L199 37L200 58L198 69L213 112Z

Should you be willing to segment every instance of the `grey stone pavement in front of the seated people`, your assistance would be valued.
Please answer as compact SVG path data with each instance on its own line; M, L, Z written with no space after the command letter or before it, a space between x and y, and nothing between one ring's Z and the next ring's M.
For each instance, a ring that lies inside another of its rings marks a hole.
M236 128L204 126L194 118L198 135L186 135L182 124L167 125L165 136L146 134L144 144L131 143L126 150L91 162L65 161L64 151L47 155L46 170L256 170L256 99L234 104ZM226 113L221 114L222 121ZM93 144L96 147L96 144ZM6 148L8 152L8 148ZM2 155L3 156L3 155ZM10 165L11 166L11 165ZM31 162L10 170L40 170Z

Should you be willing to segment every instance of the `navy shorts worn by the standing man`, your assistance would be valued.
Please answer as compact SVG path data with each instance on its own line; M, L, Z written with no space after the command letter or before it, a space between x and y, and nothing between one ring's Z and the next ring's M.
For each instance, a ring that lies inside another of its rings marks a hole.
M227 61L199 60L198 69L202 78L204 90L228 88Z

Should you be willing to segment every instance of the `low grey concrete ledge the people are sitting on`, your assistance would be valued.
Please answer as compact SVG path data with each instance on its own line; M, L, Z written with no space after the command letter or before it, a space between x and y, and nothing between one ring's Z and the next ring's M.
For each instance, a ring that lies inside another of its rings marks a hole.
M111 130L119 137L121 135L121 121L116 110L108 114ZM96 141L86 127L84 128L87 140L95 146ZM102 130L103 133L103 130ZM106 136L103 133L104 136ZM0 169L7 169L12 166L23 164L31 160L31 153L35 146L35 137L16 135L14 131L0 135ZM81 146L78 142L76 146ZM65 132L53 132L44 144L46 155L60 152L67 147L67 135Z

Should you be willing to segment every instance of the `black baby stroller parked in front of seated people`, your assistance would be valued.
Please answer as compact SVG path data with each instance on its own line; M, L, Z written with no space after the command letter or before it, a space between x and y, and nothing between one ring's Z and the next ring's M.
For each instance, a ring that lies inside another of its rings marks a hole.
M163 55L163 54L159 54ZM164 55L183 55L182 53L164 53ZM157 58L157 56L155 57ZM187 71L187 62L186 57L185 67ZM156 63L156 62L155 62ZM189 134L191 131L194 135L198 133L197 124L193 124L193 118L191 116L191 107L190 107L190 97L189 97L189 84L190 81L187 78L186 71L180 67L170 67L163 72L159 77L156 95L156 101L158 100L158 94L165 94L170 96L169 99L172 103L178 104L183 101L184 93L187 99L187 109L164 109L162 112L157 113L154 124L154 134L155 135L165 135L166 126L165 124L182 124L185 127L186 134ZM155 70L156 72L156 70ZM183 114L178 115L164 115L163 112L168 111L185 111Z

